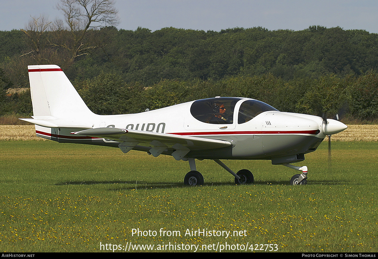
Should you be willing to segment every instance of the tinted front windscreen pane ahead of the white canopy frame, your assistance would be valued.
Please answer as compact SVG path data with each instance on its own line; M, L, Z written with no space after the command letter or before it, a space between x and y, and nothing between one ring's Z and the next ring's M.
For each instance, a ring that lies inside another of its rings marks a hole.
M242 123L248 122L249 120L259 115L260 113L263 113L264 111L278 111L278 110L258 100L247 100L243 102L239 108L237 123L242 124Z

